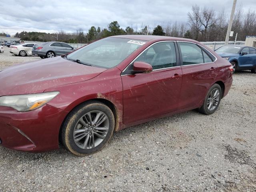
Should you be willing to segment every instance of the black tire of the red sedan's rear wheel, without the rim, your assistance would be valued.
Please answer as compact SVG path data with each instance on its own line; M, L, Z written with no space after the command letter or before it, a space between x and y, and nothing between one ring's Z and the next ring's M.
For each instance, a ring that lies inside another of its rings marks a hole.
M212 92L213 90L215 90L215 89L218 89L218 91L219 91L219 100L218 100L218 104L216 104L216 106L214 106L214 109L209 110L209 109L208 109L208 102L207 102L207 101L208 101L208 99L210 99L209 97L210 97L211 92ZM205 97L205 99L204 99L204 104L203 104L200 108L198 108L198 111L199 111L200 113L206 114L206 115L213 114L213 113L217 110L217 108L218 108L218 106L219 106L219 104L220 104L221 97L222 97L222 90L221 90L220 85L219 85L219 84L214 84L214 85L208 90L208 92L207 92L207 94L206 94L206 97Z

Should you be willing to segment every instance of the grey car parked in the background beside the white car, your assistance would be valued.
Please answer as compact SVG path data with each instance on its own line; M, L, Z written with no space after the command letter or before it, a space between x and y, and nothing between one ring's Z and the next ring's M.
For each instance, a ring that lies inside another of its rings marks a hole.
M63 42L46 42L38 46L34 46L32 54L40 56L40 58L51 58L60 56L74 51L74 48Z

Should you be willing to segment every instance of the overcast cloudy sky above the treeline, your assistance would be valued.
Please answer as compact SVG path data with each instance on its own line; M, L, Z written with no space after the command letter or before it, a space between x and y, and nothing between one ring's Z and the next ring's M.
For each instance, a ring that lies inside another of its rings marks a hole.
M40 31L57 32L63 29L74 32L90 26L106 28L117 20L122 28L126 26L149 25L174 21L187 21L187 13L194 4L223 8L230 16L233 0L1 0L0 32ZM237 0L244 11L256 10L256 0Z

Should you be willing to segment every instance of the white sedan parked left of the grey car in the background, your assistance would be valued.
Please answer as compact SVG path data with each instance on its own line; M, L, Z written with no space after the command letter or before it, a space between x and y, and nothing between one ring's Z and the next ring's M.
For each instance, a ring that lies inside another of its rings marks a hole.
M23 43L23 44L17 44L17 45L11 45L10 46L10 53L13 55L19 55L19 56L29 56L32 55L32 47L34 45L38 45L35 43Z

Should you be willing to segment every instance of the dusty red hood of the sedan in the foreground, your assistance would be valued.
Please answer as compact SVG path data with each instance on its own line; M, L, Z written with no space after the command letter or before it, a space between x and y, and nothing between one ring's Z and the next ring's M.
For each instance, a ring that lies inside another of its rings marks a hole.
M105 70L62 57L16 64L0 72L0 96L40 93L51 87L92 79Z

